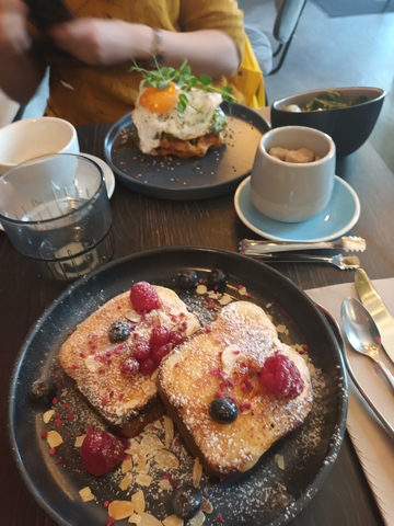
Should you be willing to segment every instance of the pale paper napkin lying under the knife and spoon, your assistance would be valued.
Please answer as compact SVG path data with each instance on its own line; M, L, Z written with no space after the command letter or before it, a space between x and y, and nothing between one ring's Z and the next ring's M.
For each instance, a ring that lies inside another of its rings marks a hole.
M373 284L394 312L394 278L375 279ZM347 296L357 298L354 283L306 290L306 294L325 307L340 322L340 306ZM394 366L382 350L382 361L394 374ZM394 395L383 380L373 362L347 348L347 355L357 380L386 420L394 426ZM366 409L358 392L349 389L347 431L362 469L376 499L384 523L394 526L394 441Z

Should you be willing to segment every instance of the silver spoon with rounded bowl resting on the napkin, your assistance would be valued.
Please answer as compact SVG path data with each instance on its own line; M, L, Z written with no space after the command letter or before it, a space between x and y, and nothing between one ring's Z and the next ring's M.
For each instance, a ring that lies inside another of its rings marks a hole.
M394 376L379 356L381 334L369 311L358 299L349 297L344 299L340 315L350 345L355 351L373 359L394 390Z

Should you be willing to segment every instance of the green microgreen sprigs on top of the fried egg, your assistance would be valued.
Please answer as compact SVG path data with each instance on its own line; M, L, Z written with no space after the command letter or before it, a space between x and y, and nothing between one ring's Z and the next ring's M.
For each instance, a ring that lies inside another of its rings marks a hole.
M183 61L179 69L175 69L170 66L160 67L157 58L153 56L153 61L157 67L157 69L153 71L143 69L138 66L134 59L131 60L134 66L129 71L137 71L138 73L141 73L143 78L143 85L146 88L152 87L157 88L158 90L165 90L169 88L171 82L174 82L183 92L188 92L192 90L192 88L198 88L200 90L220 93L222 99L229 103L230 110L232 103L236 102L235 96L231 94L231 85L217 88L211 84L212 78L209 77L209 75L200 75L198 78L195 77L192 75L192 68L188 66L186 59ZM177 113L182 115L188 104L189 102L185 93L181 93L176 107Z

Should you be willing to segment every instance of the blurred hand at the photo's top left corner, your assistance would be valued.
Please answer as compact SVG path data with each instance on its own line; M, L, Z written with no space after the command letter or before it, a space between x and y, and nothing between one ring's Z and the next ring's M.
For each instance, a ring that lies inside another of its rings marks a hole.
M30 48L27 12L21 0L0 0L0 52L20 54Z

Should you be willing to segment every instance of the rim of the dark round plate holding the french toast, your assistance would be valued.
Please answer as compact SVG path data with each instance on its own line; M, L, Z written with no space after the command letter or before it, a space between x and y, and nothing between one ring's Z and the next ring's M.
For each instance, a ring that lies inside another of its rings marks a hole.
M310 483L301 496L299 496L296 501L291 502L288 506L286 506L280 514L278 514L275 518L269 519L268 523L264 523L264 526L283 526L286 525L291 518L293 518L303 507L311 501L311 499L315 495L315 493L318 491L318 489L322 487L323 482L326 480L336 458L338 455L338 451L341 446L341 442L345 436L345 431L346 431L346 418L347 418L347 410L348 410L348 397L347 397L347 374L346 374L346 368L345 368L345 362L339 348L338 341L328 323L326 320L324 313L322 310L318 308L318 306L300 288L298 287L294 283L292 283L289 278L280 274L277 270L271 268L268 265L265 265L264 263L260 263L258 261L254 261L252 259L247 259L246 256L243 256L241 254L237 254L236 252L231 252L222 249L216 249L212 247L198 247L198 245L177 245L177 247L166 247L166 248L160 248L160 249L150 249L150 250L144 250L137 252L131 255L126 255L123 258L119 258L117 260L114 260L102 267L93 271L90 273L88 276L83 276L80 279L78 279L74 284L70 285L63 293L61 293L58 298L56 298L53 304L45 309L43 315L38 318L36 323L31 328L28 334L26 335L23 345L15 358L14 367L12 370L11 375L11 380L10 380L10 389L9 389L9 399L8 399L8 416L7 416L7 430L8 430L8 438L9 438L9 444L11 446L11 453L13 460L15 462L15 466L18 468L18 471L27 488L28 492L34 498L35 502L39 505L39 507L58 525L61 526L69 526L69 523L65 521L62 516L57 514L48 504L48 502L44 499L44 495L37 491L36 487L34 485L33 481L28 477L28 473L24 469L23 461L21 458L21 455L19 453L19 447L18 447L18 441L14 436L13 433L13 412L14 412L14 400L15 400L15 388L18 385L18 375L19 370L22 366L22 361L25 357L26 353L28 352L28 346L30 343L32 342L33 338L35 336L36 332L39 331L40 325L45 322L45 320L56 310L59 304L72 294L74 289L79 289L84 286L89 286L92 281L94 281L95 276L111 272L113 268L115 268L118 265L123 265L124 263L128 262L136 262L140 259L144 258L154 258L158 259L160 255L163 253L177 253L179 252L181 254L184 252L196 252L197 254L202 254L202 253L211 253L211 254L217 254L221 255L223 258L230 258L232 260L237 260L239 262L241 261L247 261L247 265L251 265L252 267L255 267L256 271L264 271L267 272L268 274L271 274L273 277L276 279L282 281L283 284L286 283L286 287L289 287L293 293L299 294L300 296L303 297L303 300L305 300L309 304L309 307L314 311L315 316L320 318L321 322L325 325L327 329L327 332L329 333L329 338L332 340L332 343L334 343L333 348L335 350L334 352L334 358L337 363L337 367L340 370L340 376L343 377L343 385L341 385L341 395L338 396L338 419L335 424L335 432L332 435L332 438L329 441L328 447L327 447L327 453L325 457L325 461L321 466L320 470L317 471L314 480L312 483ZM130 265L131 266L131 265ZM131 271L132 272L132 271ZM262 523L259 523L262 524Z

